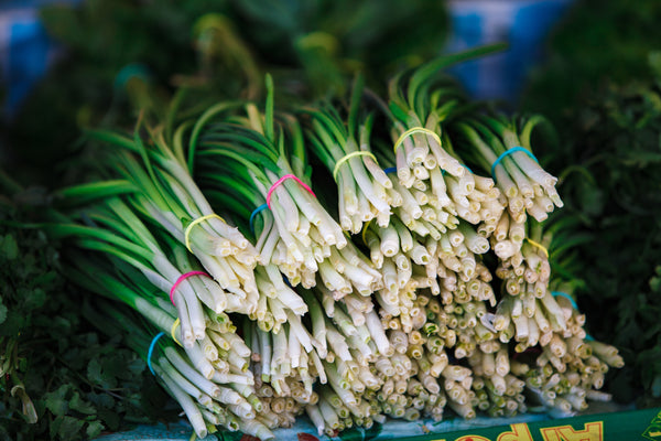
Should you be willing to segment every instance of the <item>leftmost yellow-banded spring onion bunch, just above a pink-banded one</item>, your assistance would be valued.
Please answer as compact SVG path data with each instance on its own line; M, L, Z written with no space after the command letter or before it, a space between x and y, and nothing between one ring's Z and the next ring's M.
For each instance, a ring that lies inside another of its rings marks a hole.
M185 245L224 290L246 299L240 308L253 311L259 298L257 250L238 228L215 214L182 163L181 151L165 142L163 132L149 129L145 142L139 129L140 125L133 139L90 132L93 138L120 148L108 153L105 171L132 184L136 191L128 203Z

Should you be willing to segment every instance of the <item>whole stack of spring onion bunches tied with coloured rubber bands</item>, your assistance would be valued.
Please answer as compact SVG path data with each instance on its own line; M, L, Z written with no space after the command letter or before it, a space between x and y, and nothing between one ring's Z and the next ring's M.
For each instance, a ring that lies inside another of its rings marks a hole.
M562 201L531 150L539 119L438 73L476 54L403 73L384 101L358 80L348 103L281 108L269 77L263 110L88 133L112 146L106 180L61 190L47 232L73 241L74 280L143 318L132 347L198 437L609 398L621 357L550 288Z

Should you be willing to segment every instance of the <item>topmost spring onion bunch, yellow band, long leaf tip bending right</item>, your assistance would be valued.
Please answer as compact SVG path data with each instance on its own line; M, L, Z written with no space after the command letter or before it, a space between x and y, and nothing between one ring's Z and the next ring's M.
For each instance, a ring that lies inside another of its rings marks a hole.
M438 76L441 68L491 50L441 57L390 83L388 107L397 178L421 205L409 211L412 230L423 222L445 233L455 229L459 219L492 225L500 216L502 207L492 180L473 173L453 151L445 126L466 111L468 103L452 82Z

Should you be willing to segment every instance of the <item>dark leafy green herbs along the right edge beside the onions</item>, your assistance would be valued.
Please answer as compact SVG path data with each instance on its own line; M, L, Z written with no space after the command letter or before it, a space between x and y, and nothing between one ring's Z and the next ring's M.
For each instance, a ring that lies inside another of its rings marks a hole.
M548 155L575 228L593 240L574 247L578 303L596 338L619 347L624 369L607 381L616 398L661 402L661 76L651 53L647 78L611 82L560 125L564 142Z

